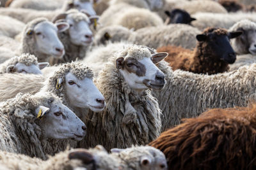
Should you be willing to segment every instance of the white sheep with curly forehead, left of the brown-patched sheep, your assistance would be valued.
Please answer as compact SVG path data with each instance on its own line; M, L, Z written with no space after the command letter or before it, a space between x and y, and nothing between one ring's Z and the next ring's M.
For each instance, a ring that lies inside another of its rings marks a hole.
M81 62L63 64L49 78L38 75L4 74L0 76L0 101L6 101L19 92L52 92L63 104L82 117L88 109L102 111L106 106L104 97L93 84L93 72ZM12 83L11 83L12 82Z

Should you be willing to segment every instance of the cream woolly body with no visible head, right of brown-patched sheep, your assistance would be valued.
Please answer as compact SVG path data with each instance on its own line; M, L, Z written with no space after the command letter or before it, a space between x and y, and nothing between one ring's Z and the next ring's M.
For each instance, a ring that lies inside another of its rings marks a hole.
M166 85L161 91L152 91L152 95L163 111L162 132L180 124L181 118L197 117L207 108L242 107L256 101L256 64L211 76L172 71L166 62L158 67L166 76Z

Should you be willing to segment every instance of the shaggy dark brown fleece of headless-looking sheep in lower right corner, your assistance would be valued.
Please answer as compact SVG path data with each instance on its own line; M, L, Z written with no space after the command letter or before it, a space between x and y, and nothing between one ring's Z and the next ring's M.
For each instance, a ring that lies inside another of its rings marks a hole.
M183 121L149 144L164 153L169 169L256 168L256 104Z

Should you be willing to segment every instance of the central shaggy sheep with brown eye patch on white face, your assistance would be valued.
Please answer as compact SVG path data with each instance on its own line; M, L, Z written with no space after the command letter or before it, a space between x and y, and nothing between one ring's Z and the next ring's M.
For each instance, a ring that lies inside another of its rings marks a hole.
M146 145L159 136L161 110L148 89L163 89L164 74L154 64L166 56L132 45L109 59L95 80L106 108L81 118L90 132L79 147L127 148Z

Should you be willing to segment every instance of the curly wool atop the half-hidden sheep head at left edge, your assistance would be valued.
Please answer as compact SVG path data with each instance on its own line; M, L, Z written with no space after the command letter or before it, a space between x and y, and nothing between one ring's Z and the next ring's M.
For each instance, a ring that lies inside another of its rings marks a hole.
M3 64L0 65L0 74L6 73L6 68L8 66L16 65L17 63L25 64L26 66L37 65L37 59L35 55L30 55L29 53L22 53L20 56L12 57L9 60L6 60Z

